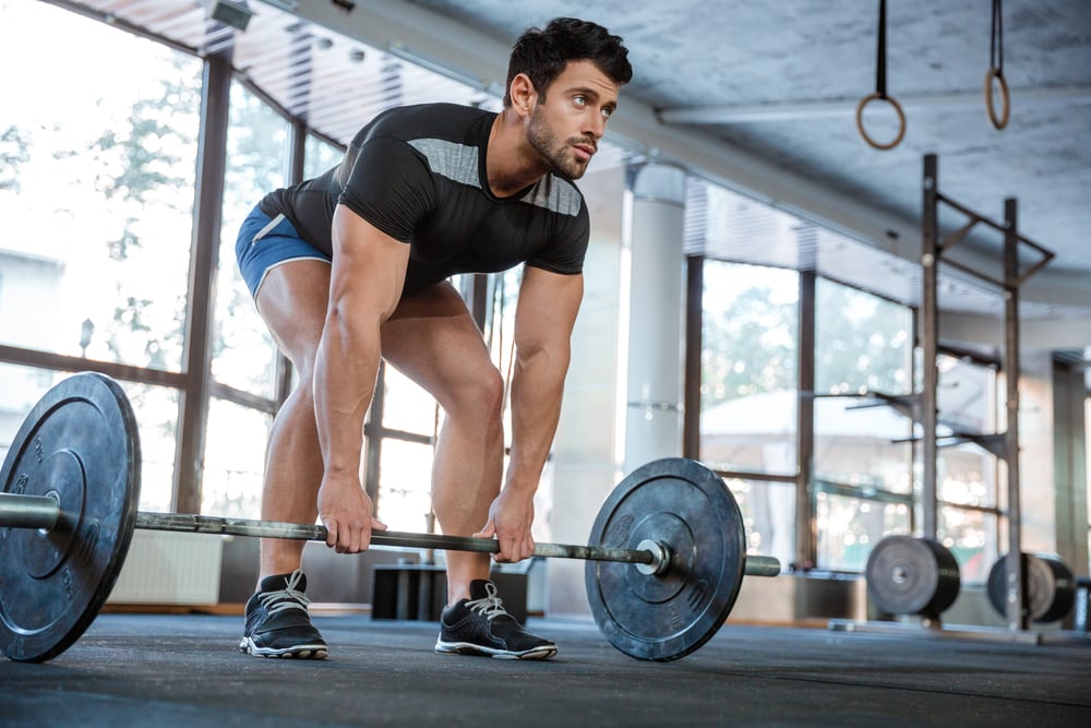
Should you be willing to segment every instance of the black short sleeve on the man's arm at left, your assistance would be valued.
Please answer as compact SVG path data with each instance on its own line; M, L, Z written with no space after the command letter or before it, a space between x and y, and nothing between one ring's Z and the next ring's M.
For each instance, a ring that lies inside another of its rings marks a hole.
M360 148L338 202L401 242L433 208L428 163L405 142L372 138Z

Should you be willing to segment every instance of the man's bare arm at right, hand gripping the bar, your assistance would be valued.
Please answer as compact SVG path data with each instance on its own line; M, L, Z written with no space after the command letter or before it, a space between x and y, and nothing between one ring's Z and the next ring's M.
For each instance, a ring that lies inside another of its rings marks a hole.
M527 266L515 314L512 375L512 455L504 489L479 535L495 535L497 561L533 553L533 497L561 417L572 329L584 296L583 275Z

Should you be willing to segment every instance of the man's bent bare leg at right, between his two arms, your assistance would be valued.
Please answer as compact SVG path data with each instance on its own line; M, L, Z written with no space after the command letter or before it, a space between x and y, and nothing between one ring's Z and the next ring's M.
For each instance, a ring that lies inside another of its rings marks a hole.
M432 508L444 534L470 536L489 517L503 476L503 379L473 319L448 284L401 302L383 326L383 356L444 410L432 465ZM487 553L447 551L447 602L488 578Z

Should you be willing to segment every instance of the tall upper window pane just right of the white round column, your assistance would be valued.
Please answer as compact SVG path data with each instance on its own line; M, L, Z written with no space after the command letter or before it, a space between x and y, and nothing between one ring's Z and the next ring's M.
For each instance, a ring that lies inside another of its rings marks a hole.
M796 470L799 275L706 261L700 457L721 470Z

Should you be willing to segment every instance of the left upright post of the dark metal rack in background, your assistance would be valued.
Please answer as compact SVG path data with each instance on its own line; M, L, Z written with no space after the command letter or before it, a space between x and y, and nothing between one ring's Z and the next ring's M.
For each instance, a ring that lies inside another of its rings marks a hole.
M939 355L939 301L938 301L938 268L939 268L939 215L938 215L939 165L936 155L924 156L924 212L922 227L924 229L922 266L922 303L921 303L921 353L923 367L923 386L921 390L921 532L926 538L936 537L936 461L938 445L936 429L938 427L937 393L939 391L939 370L936 357Z

